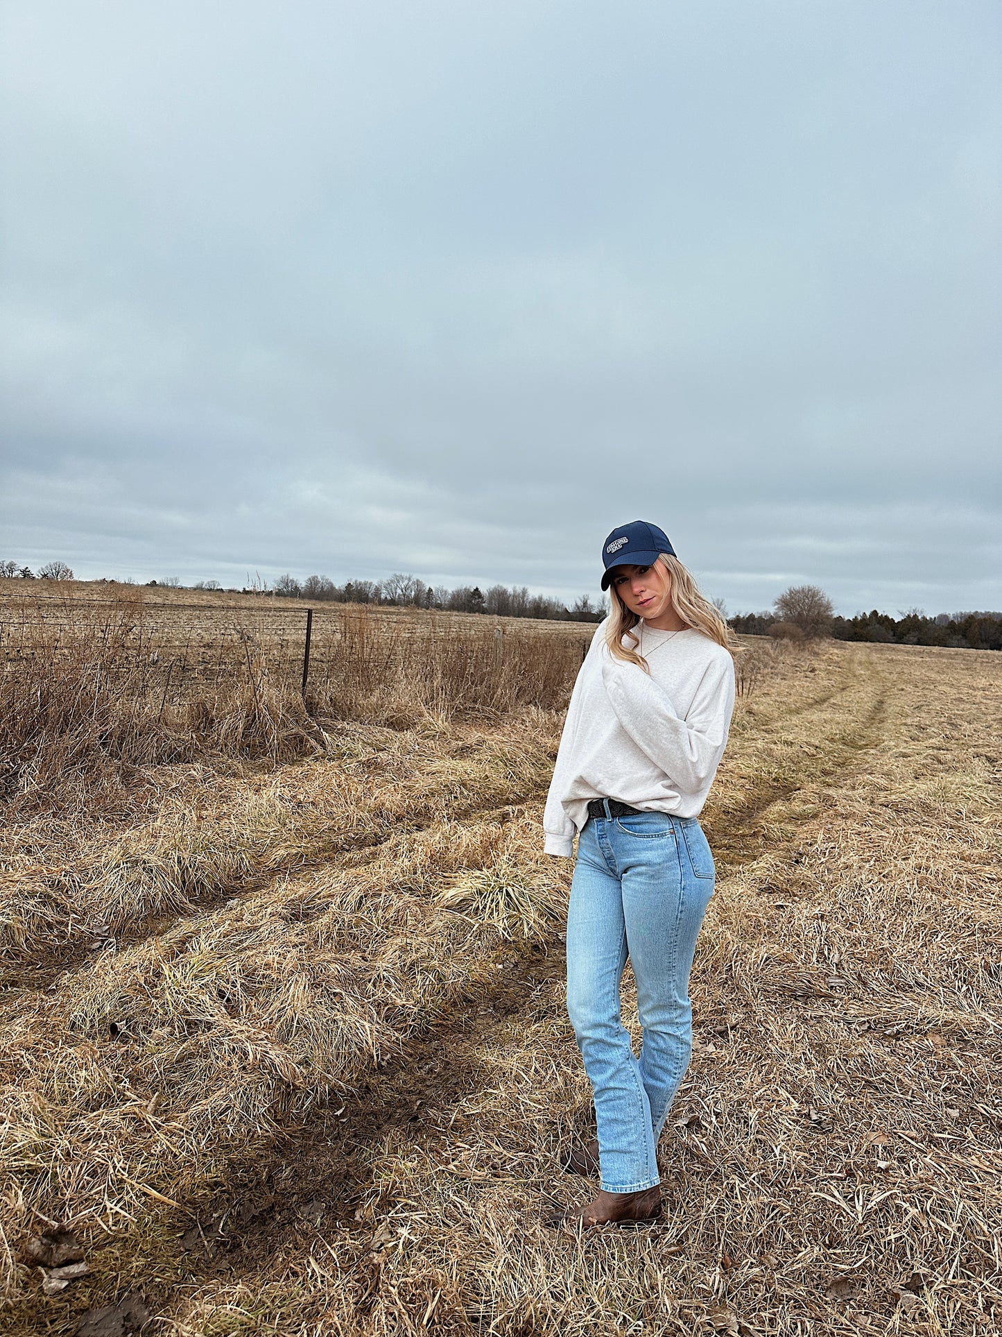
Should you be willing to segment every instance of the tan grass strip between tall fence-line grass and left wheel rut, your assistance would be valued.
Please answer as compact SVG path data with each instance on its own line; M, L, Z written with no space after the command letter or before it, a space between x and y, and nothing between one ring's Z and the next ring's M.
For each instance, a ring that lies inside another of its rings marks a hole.
M401 822L538 793L552 730L552 717L530 710L512 717L502 737L433 721L409 735L355 731L339 741L341 763L305 763L251 786L240 778L180 785L163 794L152 821L122 834L102 828L80 842L63 834L55 869L33 842L12 841L0 959L16 971L80 955L148 931L163 915L375 845Z

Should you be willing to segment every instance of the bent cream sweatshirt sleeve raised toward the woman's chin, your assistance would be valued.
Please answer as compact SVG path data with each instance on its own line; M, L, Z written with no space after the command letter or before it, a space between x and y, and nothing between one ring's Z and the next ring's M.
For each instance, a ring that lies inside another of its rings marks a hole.
M619 722L665 775L700 790L713 778L733 710L733 663L728 655L704 673L685 719L668 693L637 664L607 659L605 691Z

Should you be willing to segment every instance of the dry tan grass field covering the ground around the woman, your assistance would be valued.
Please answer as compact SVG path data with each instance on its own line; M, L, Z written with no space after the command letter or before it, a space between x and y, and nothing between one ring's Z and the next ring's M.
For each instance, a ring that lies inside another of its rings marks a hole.
M382 677L347 694L345 651L301 715L273 681L270 750L222 727L236 678L202 734L196 693L99 685L60 753L4 675L4 1330L998 1330L1002 656L751 651L667 1211L574 1237L541 1223L589 1189L589 1092L540 817L582 628L498 662L481 622L381 631Z

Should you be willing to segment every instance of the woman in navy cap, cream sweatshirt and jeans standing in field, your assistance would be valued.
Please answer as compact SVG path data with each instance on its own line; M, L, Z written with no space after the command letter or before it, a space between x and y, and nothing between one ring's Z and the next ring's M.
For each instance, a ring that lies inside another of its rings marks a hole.
M661 1210L657 1138L692 1054L689 972L713 893L697 814L733 710L732 638L655 524L603 550L612 611L581 664L546 801L548 854L569 858L568 1011L599 1136L565 1169L599 1195L553 1225L643 1223ZM629 957L640 1058L620 1020Z

